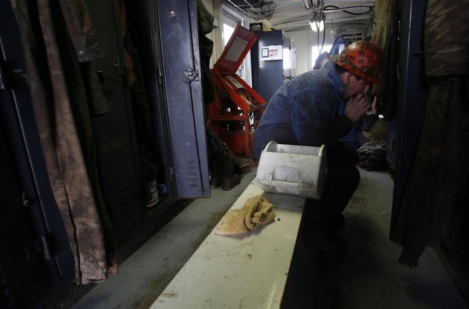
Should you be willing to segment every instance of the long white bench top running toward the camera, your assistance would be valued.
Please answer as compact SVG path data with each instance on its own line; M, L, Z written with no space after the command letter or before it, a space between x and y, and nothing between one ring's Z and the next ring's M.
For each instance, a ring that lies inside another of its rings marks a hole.
M275 221L243 237L213 229L151 308L279 308L292 260L304 198L263 192L255 179L231 209L261 194Z

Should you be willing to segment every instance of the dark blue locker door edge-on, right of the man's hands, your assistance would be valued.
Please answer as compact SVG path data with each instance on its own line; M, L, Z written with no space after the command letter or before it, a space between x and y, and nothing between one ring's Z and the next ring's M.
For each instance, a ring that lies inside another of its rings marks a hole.
M386 153L386 159L396 172L391 237L406 191L412 159L417 150L419 122L424 113L426 98L423 53L426 1L405 1L401 5L399 67L402 78L397 88L400 100L396 115L389 126L389 146Z

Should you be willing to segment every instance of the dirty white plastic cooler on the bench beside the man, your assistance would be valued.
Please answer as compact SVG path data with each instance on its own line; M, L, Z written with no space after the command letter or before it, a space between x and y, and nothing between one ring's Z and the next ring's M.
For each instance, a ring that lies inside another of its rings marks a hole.
M256 181L265 192L319 199L327 174L326 146L271 141L262 150Z

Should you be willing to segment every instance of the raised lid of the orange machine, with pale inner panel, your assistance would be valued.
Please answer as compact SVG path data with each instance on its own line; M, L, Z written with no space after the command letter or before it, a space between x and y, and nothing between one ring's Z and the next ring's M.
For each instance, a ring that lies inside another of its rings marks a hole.
M256 40L257 34L237 25L214 68L220 73L235 73Z

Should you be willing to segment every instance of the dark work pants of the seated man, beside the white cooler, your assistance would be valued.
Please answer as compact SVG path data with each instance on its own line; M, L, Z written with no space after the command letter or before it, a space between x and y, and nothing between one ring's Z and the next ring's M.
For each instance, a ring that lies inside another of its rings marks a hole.
M327 148L327 179L320 200L307 198L303 218L307 228L327 230L347 207L360 183L356 168L358 153L350 146L338 142Z

